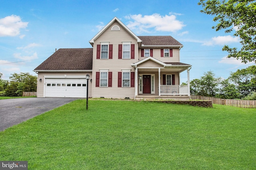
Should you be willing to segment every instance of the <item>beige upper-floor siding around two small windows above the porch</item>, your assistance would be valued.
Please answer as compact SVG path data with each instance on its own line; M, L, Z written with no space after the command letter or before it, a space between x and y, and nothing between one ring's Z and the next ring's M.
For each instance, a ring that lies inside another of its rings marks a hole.
M158 59L159 61L162 61L164 63L165 62L180 62L180 56L179 56L180 50L178 48L172 49L172 57L161 57L161 49L164 49L164 48L153 48L153 57L155 59ZM138 53L139 60L144 59L145 57L141 57L141 49L139 49L138 52L139 52Z

